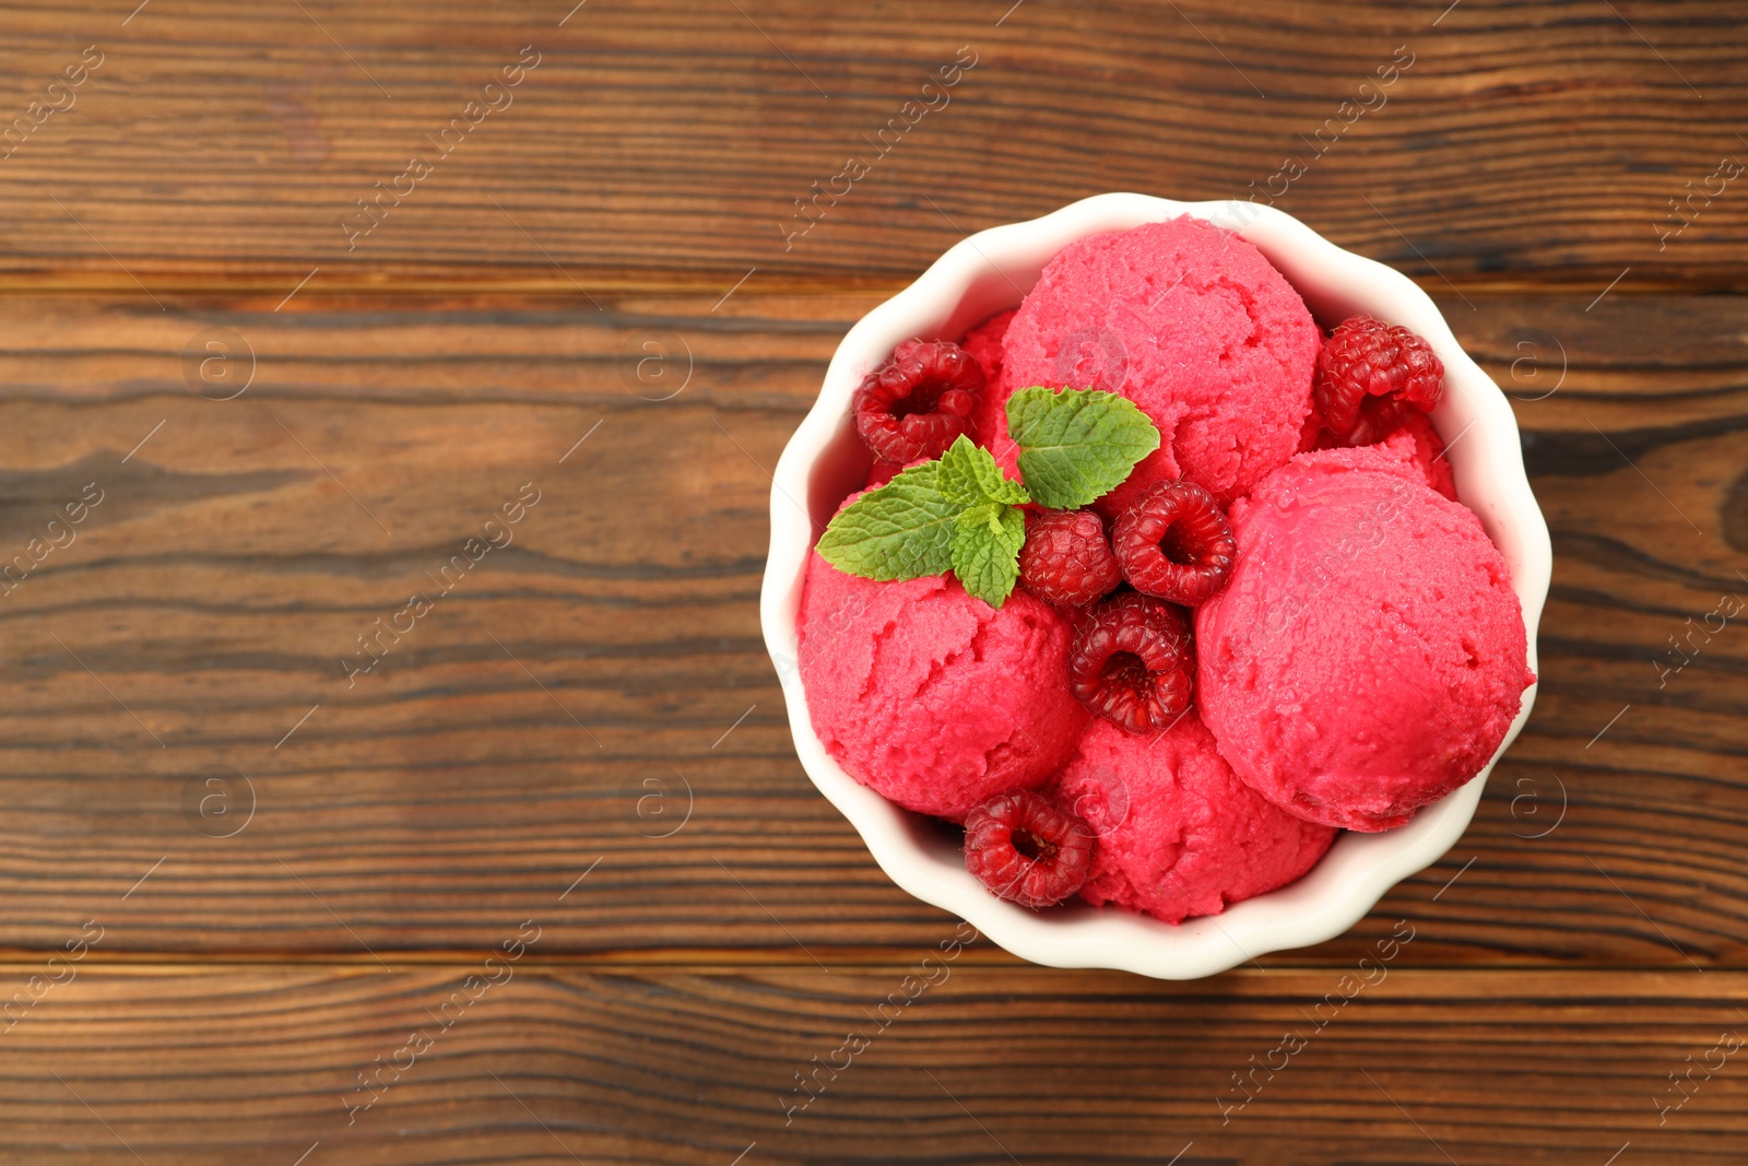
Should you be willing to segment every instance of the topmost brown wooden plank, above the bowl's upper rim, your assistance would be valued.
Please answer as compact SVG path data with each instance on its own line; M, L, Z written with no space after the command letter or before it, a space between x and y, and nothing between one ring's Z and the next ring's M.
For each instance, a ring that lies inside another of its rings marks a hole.
M1274 192L1440 290L1745 287L1724 0L133 7L0 7L10 287L891 287L961 231L1124 189ZM523 45L538 66L488 98ZM404 198L353 239L376 184Z

